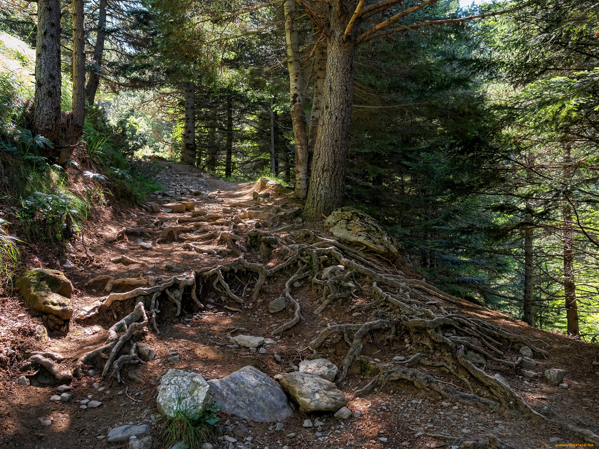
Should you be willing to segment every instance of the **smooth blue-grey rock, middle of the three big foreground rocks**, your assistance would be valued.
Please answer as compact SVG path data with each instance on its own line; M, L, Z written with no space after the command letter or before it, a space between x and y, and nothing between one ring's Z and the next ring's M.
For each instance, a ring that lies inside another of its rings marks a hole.
M209 380L208 385L210 395L226 413L261 423L286 420L294 414L279 384L253 366Z

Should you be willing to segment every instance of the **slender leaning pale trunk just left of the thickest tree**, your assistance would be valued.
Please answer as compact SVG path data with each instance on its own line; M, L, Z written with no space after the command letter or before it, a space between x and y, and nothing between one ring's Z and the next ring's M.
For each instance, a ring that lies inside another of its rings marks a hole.
M295 138L295 196L303 199L308 191L308 138L305 134L304 87L299 65L299 40L295 20L295 0L285 2L285 40L289 69L291 122Z

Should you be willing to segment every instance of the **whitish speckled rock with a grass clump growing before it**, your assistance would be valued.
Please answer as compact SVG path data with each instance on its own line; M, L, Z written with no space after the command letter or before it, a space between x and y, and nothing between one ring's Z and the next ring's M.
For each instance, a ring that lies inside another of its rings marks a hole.
M182 369L169 369L158 386L158 411L174 416L177 412L193 415L211 401L210 387L201 375Z

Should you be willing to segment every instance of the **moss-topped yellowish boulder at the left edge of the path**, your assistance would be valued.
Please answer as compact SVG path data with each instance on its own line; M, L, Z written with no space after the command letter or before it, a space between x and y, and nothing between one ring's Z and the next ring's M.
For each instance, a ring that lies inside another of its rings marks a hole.
M73 286L62 272L34 268L17 279L15 285L32 309L61 320L71 319Z

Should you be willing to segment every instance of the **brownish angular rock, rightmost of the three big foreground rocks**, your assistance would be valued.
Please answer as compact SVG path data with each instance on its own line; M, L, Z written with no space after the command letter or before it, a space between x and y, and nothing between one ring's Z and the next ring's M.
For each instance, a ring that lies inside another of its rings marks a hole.
M299 405L299 412L337 411L347 400L334 383L309 372L289 372L277 375L283 388Z

